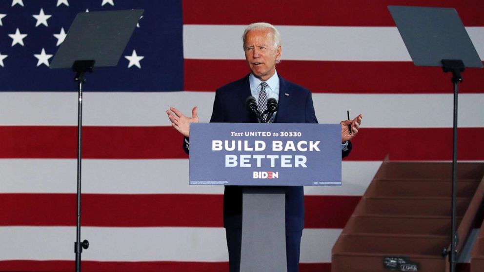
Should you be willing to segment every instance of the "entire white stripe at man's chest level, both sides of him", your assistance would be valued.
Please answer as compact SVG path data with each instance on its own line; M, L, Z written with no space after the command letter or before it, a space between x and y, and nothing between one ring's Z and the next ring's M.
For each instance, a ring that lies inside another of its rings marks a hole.
M449 88L451 88L449 83ZM213 92L85 93L87 126L170 126L173 106L191 116L198 106L202 122L212 113ZM452 127L452 94L313 94L321 123L337 123L363 113L363 128ZM484 94L459 95L459 127L484 127ZM0 92L0 125L77 125L77 95Z

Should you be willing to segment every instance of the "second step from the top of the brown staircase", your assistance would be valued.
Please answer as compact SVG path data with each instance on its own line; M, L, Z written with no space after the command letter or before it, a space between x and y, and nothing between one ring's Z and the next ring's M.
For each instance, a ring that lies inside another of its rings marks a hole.
M472 197L479 186L480 180L458 180L457 196ZM378 196L452 196L451 180L378 180L376 182Z

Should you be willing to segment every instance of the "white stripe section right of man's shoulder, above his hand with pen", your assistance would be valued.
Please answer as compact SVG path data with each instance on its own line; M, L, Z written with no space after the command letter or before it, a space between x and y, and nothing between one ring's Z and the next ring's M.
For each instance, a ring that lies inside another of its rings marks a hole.
M438 128L453 126L453 95L313 95L320 123L338 122L350 111L363 114L362 128ZM459 95L459 127L484 127L484 94Z

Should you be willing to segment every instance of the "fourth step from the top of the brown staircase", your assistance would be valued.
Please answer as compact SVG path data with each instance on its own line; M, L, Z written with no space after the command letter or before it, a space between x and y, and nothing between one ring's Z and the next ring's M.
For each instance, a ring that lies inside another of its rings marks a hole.
M461 218L458 218L458 223ZM447 235L450 216L411 216L366 214L353 215L345 228L347 233L392 233Z

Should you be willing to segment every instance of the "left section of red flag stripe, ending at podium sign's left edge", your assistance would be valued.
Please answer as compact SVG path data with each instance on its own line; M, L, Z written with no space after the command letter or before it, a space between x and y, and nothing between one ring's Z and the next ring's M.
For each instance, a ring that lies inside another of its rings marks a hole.
M0 126L0 158L77 158L77 127ZM188 158L172 127L82 129L83 158Z

